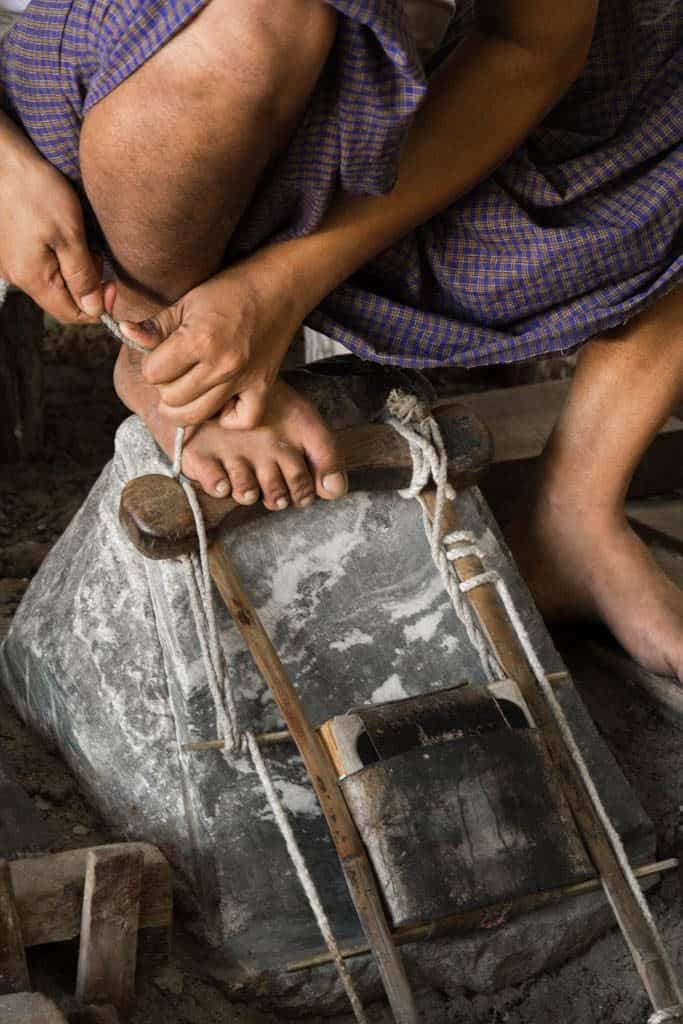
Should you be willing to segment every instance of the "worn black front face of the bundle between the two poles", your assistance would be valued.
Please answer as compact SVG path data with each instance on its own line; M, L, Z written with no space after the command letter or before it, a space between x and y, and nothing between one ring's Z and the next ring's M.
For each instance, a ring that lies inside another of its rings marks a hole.
M341 782L394 928L593 873L535 729L417 748Z

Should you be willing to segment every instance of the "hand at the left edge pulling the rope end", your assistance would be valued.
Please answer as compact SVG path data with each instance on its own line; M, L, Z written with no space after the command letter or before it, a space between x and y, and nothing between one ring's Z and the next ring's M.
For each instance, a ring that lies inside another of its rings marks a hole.
M78 196L0 114L0 278L67 324L103 310L101 265L88 250Z

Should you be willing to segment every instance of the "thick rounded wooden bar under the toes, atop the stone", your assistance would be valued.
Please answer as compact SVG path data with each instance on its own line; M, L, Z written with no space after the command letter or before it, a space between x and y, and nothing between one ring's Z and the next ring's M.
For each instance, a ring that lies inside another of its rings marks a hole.
M465 486L492 459L490 434L462 406L447 406L436 420L449 453L449 477ZM337 432L348 471L349 490L397 490L411 482L413 460L407 441L393 427L366 423ZM207 536L263 515L258 505L238 505L231 498L212 498L198 489ZM123 489L119 519L126 534L147 558L176 558L197 550L195 520L177 480L162 474L140 476Z

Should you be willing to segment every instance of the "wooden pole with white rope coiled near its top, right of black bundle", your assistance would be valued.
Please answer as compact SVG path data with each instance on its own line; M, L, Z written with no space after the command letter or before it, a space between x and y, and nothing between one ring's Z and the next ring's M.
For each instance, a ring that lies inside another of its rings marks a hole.
M427 514L433 521L436 509L434 489L425 490L422 498ZM443 510L443 535L459 528L462 528L462 523L458 519L456 507L453 502L449 502ZM453 564L463 582L484 571L480 559L474 555L456 558ZM469 592L469 599L504 672L519 686L543 732L579 830L600 876L652 1007L654 1010L668 1010L681 1006L683 996L656 927L644 912L629 885L609 836L593 806L586 782L531 671L495 585L486 583L475 587Z

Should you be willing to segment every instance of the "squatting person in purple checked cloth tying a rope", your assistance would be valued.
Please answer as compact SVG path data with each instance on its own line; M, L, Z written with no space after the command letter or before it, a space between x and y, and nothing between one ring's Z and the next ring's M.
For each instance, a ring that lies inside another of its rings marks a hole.
M683 594L624 515L683 391L680 0L33 0L0 86L0 274L156 346L119 394L167 452L196 425L211 494L343 494L278 379L304 321L414 367L581 348L509 540L547 616L683 681Z

